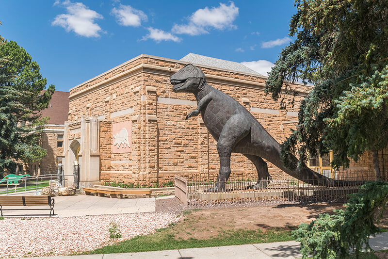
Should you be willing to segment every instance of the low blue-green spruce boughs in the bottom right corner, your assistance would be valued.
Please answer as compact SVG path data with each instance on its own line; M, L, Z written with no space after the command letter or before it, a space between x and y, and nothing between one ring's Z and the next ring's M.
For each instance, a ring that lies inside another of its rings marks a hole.
M369 237L379 232L375 221L379 222L387 206L388 183L369 182L349 197L345 210L334 210L334 215L321 214L317 220L292 231L301 243L303 259L309 255L314 259L346 258L351 248L359 258L364 244L367 251L372 250Z

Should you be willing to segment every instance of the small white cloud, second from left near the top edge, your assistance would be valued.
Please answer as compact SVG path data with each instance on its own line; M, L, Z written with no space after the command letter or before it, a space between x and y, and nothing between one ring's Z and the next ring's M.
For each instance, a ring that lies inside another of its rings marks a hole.
M143 11L123 4L120 4L119 8L114 7L111 15L115 16L117 23L123 26L139 27L142 21L148 20L148 17Z

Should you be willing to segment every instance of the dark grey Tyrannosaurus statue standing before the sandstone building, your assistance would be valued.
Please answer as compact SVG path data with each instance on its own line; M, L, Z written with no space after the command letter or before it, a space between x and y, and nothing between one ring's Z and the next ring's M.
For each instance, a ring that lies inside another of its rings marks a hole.
M206 82L205 74L198 67L192 64L185 65L170 77L170 82L174 85L174 92L195 95L198 107L190 112L186 119L201 113L210 134L217 141L220 171L216 185L209 191L225 190L225 182L230 176L232 153L243 154L255 165L260 180L254 186L255 189L265 188L271 179L263 158L290 176L310 184L336 186L343 183L318 174L306 166L297 167L295 170L286 168L280 160L279 143L239 102L211 87ZM295 157L294 159L297 160Z

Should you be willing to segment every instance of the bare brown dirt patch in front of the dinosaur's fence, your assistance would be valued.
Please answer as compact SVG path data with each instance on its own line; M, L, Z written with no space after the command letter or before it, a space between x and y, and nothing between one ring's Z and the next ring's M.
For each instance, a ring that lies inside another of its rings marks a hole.
M227 230L293 229L301 223L309 223L321 213L333 213L333 210L343 208L342 203L314 203L186 210L189 214L184 213L173 232L176 239L187 240L208 239Z

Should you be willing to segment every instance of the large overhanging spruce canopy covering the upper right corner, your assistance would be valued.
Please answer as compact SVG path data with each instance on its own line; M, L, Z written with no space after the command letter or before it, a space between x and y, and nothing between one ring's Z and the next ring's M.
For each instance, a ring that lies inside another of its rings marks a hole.
M296 39L282 50L266 91L287 106L283 90L303 81L315 88L302 101L298 128L282 145L286 166L307 154L334 151L334 166L349 166L388 144L388 1L296 0L290 22ZM297 146L299 145L299 146ZM378 162L377 162L378 165ZM377 177L377 175L376 175Z

